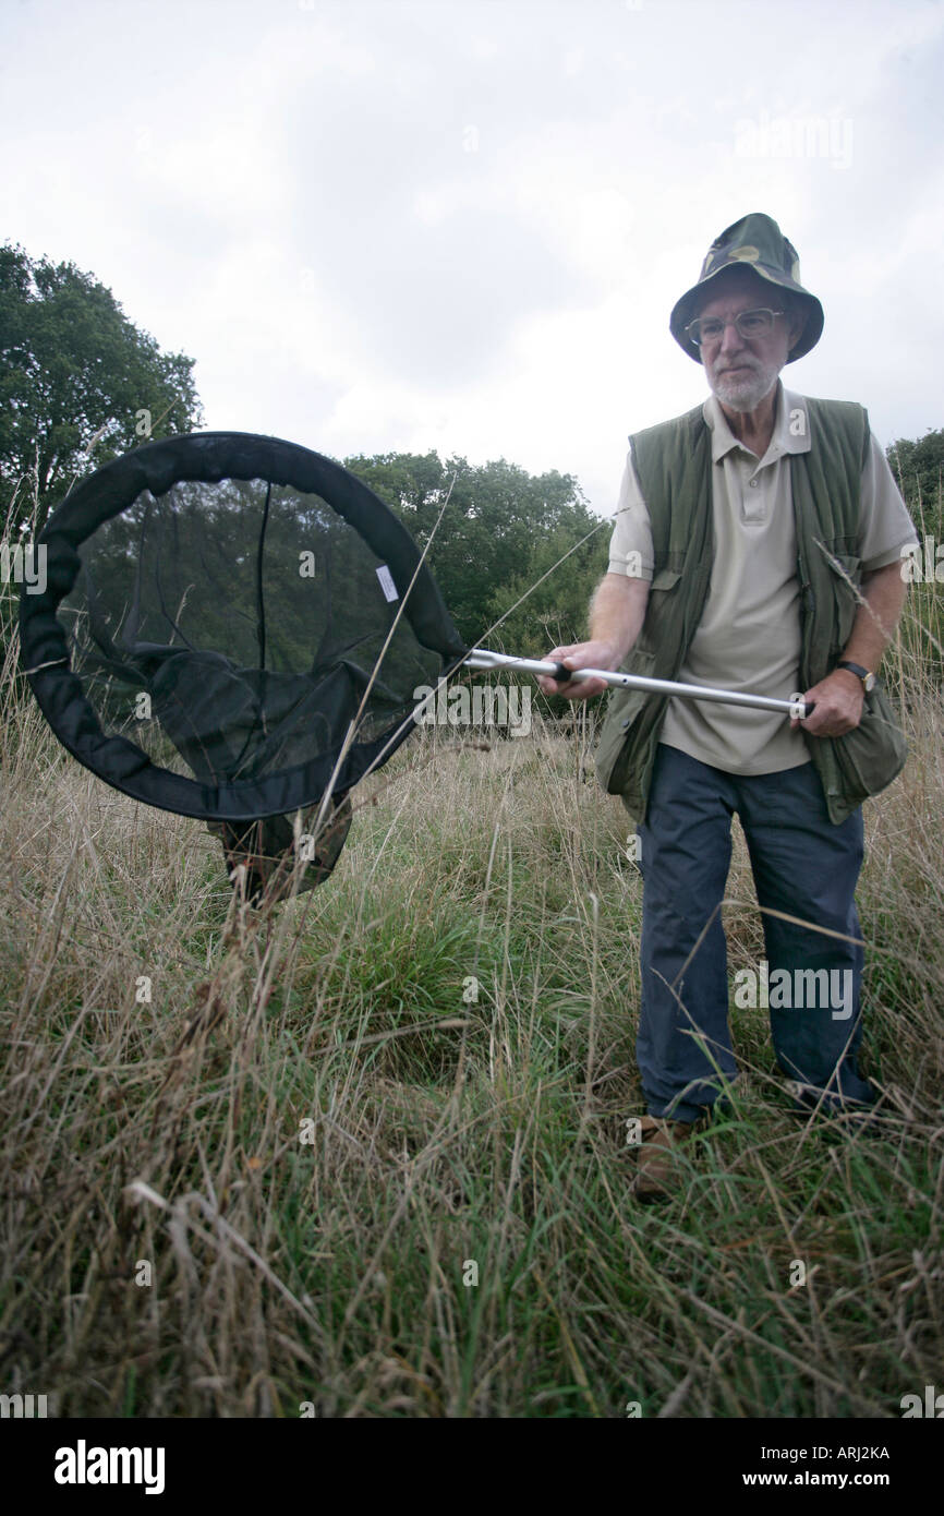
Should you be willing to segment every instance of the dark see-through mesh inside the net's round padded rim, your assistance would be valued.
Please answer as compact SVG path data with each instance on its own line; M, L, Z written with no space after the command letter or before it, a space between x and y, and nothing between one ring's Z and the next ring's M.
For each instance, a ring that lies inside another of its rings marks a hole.
M264 479L142 491L79 556L58 615L103 732L208 782L335 755L408 588L326 500ZM356 741L441 667L402 615Z

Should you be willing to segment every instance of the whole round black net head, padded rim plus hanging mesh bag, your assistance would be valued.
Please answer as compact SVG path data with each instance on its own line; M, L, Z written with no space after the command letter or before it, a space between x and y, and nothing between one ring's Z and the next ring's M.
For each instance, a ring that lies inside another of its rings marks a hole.
M280 438L133 449L39 546L20 646L53 731L115 788L206 820L250 896L327 878L349 790L467 653L394 512Z

